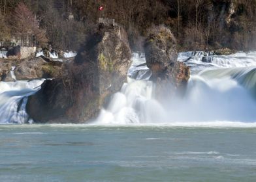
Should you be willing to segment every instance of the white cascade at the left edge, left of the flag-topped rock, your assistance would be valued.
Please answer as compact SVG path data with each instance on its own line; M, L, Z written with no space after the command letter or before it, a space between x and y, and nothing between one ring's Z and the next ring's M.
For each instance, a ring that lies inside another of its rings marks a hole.
M27 96L40 89L43 80L0 82L0 123L27 123Z

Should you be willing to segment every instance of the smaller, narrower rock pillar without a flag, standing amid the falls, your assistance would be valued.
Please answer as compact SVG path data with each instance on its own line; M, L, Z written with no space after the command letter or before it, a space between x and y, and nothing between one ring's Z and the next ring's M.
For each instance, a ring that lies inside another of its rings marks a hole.
M156 84L159 99L183 94L189 80L189 68L177 61L176 39L163 26L150 30L144 44L146 62L152 70L151 80Z

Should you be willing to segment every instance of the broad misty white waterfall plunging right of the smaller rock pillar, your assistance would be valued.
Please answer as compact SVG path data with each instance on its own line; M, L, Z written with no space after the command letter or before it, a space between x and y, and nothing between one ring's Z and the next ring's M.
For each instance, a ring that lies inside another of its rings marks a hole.
M256 122L255 109L255 99L232 77L193 75L185 98L176 99L168 106L168 121Z

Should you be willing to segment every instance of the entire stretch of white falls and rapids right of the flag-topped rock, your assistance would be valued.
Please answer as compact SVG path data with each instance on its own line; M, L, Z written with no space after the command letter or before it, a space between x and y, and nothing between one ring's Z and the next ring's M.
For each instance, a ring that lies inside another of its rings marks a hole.
M184 98L166 98L165 104L155 99L154 85L148 77L141 79L145 59L133 55L133 66L121 92L101 111L95 124L153 123L202 125L202 123L256 122L256 53L212 56L202 62L202 53L180 53L180 61L191 67L193 74ZM185 61L189 59L188 61ZM193 64L191 64L193 62ZM138 66L142 65L142 66ZM248 67L250 66L250 67ZM224 69L225 68L225 69ZM149 76L150 77L150 76ZM166 104L168 103L168 104Z

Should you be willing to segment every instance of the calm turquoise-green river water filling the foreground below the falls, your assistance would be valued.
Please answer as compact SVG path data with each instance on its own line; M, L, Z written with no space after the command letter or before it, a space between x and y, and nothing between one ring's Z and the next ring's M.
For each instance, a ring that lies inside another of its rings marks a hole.
M256 181L256 128L0 125L0 181Z

